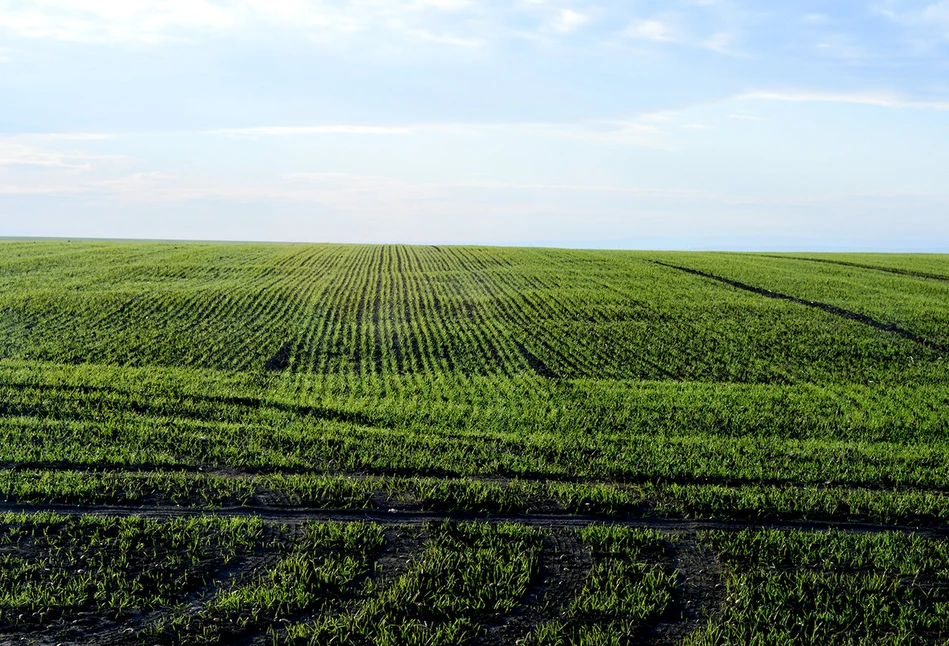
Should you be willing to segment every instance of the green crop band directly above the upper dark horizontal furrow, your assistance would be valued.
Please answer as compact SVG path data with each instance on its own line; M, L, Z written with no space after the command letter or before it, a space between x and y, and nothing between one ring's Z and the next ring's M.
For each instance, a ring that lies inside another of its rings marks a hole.
M546 432L423 432L340 422L0 421L7 468L190 469L529 480L949 488L949 444Z

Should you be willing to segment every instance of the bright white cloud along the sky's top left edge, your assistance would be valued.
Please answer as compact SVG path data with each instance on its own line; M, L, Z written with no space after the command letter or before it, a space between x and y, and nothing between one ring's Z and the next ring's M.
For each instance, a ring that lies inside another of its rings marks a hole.
M0 11L0 32L73 43L160 45L201 35L293 32L311 41L392 51L411 44L483 46L511 17L568 35L590 20L576 8L513 8L473 0L22 0ZM358 39L358 42L356 42Z

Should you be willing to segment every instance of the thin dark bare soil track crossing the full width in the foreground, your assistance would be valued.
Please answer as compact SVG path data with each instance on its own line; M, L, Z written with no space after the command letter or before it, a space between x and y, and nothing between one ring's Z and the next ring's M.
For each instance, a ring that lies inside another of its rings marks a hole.
M909 525L886 525L878 523L858 523L847 521L743 521L711 520L686 518L606 518L583 514L473 514L438 513L391 510L331 510L307 509L301 507L221 507L196 508L164 505L128 506L128 505L58 505L58 504L11 504L0 503L0 513L36 513L52 512L67 516L141 516L145 518L176 518L193 516L213 516L216 518L260 518L261 520L287 525L311 521L353 522L368 521L382 525L425 525L431 522L477 521L487 523L519 523L531 527L570 528L588 525L610 525L619 527L638 527L660 532L694 534L708 530L735 531L743 529L764 529L781 531L827 531L836 530L854 534L883 534L900 532L917 534L944 540L949 538L949 527L920 527Z

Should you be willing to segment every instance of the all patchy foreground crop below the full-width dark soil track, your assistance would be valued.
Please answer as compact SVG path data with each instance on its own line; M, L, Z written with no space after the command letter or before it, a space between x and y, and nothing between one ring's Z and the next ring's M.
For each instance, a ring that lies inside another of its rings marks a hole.
M527 644L625 644L681 621L702 589L720 607L687 644L949 637L949 544L903 533L55 514L0 526L7 637L88 638L76 631L93 611L98 638L131 626L149 643L470 644L511 628ZM701 562L676 556L686 544ZM578 571L550 569L568 554Z

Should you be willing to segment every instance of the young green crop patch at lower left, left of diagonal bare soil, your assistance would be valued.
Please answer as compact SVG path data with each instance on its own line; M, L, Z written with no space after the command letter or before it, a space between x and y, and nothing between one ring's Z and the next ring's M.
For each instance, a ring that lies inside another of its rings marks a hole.
M8 546L0 555L3 621L171 605L262 535L253 519L6 514L0 527L0 544Z

